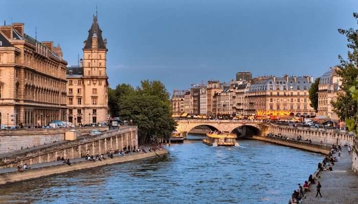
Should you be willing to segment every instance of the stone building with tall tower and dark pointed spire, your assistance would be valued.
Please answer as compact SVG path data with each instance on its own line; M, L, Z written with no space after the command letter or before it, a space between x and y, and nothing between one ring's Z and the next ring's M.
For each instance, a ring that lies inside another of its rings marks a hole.
M83 60L67 68L68 121L77 124L106 122L108 114L106 74L107 40L102 38L97 16L83 46Z

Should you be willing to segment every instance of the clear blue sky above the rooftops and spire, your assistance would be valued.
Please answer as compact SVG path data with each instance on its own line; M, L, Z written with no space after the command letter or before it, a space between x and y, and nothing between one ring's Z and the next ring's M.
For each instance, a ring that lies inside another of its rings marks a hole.
M148 79L170 92L238 71L320 77L347 56L337 30L357 28L358 12L356 0L0 0L0 22L36 27L77 65L96 5L110 87Z

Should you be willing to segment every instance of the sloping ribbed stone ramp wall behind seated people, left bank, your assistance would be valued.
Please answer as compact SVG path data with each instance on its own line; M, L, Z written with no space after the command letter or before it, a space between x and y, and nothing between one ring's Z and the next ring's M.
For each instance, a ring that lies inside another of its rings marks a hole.
M56 161L57 157L73 159L89 155L106 154L108 150L138 147L137 126L106 131L99 135L87 135L73 141L60 141L22 149L0 155L0 168L17 167L24 164L37 164Z

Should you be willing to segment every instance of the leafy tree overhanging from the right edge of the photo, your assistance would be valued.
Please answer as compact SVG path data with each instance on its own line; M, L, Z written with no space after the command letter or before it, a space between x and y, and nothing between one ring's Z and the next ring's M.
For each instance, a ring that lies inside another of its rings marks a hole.
M353 13L353 17L358 20L357 13ZM339 29L338 31L347 37L347 46L352 49L352 52L348 50L348 60L339 56L341 64L338 66L337 73L342 78L341 89L344 93L339 94L337 101L332 102L334 112L338 114L341 120L345 120L354 117L358 110L357 103L349 90L358 77L358 30L350 28L348 30Z

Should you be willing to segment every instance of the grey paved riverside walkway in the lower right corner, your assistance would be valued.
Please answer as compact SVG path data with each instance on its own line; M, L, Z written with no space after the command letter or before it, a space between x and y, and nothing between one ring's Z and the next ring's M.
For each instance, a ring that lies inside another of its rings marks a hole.
M338 154L334 156L338 157ZM312 185L311 192L307 192L307 198L303 199L304 204L358 203L358 175L351 169L352 155L348 155L347 147L342 147L341 158L334 164L333 171L320 171L319 173L318 181L322 185L323 197L320 195L316 197L316 185Z

